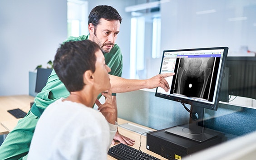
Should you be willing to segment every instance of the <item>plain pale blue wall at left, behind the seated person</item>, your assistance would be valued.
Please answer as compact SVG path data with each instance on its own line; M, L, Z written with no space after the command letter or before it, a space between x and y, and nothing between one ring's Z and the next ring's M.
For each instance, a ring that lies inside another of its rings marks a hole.
M0 96L28 94L29 71L66 37L66 0L0 0Z

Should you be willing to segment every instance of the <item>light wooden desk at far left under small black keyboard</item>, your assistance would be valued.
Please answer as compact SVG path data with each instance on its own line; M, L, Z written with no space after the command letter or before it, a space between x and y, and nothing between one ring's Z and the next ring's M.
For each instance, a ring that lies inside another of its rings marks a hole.
M20 119L12 116L8 110L20 108L24 112L30 111L30 102L34 102L34 97L28 95L2 96L0 97L0 135L8 134ZM3 124L8 124L4 126Z

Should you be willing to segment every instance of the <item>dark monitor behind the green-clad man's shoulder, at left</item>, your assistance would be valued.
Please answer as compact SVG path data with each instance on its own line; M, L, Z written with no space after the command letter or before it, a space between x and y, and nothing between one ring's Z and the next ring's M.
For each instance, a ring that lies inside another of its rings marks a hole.
M46 85L49 75L52 73L50 68L38 68L36 73L35 92L39 93Z

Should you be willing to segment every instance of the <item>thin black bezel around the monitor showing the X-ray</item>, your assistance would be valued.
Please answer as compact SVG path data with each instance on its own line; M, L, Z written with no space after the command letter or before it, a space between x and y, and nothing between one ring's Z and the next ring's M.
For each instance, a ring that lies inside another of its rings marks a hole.
M213 100L213 104L209 104L209 103L206 103L206 102L198 102L198 101L188 100L188 99L182 98L182 97L175 97L175 96L172 96L172 95L166 95L166 94L158 93L158 87L157 87L156 92L155 92L155 97L161 97L161 98L164 98L164 99L177 101L177 102L182 102L182 103L190 104L190 105L197 106L197 107L203 107L203 108L207 108L207 109L211 109L211 110L217 110L218 102L219 102L219 92L221 90L222 78L223 78L224 69L225 69L225 65L226 65L226 57L227 57L228 47L164 50L163 53L162 53L162 61L161 61L159 74L161 74L162 63L163 63L163 58L164 58L164 53L165 52L196 51L196 50L200 51L200 50L214 50L214 49L223 49L223 57L222 57L219 79L217 80L218 81L218 83L217 83L217 92L216 92L217 95L216 95L216 98Z

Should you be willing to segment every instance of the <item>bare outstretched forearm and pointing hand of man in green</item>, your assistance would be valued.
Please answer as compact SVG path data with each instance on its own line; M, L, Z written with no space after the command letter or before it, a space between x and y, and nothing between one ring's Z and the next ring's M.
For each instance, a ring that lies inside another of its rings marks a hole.
M118 76L109 75L112 92L123 93L136 91L143 88L162 87L166 92L170 89L165 78L173 76L175 73L158 74L149 79L125 79Z

